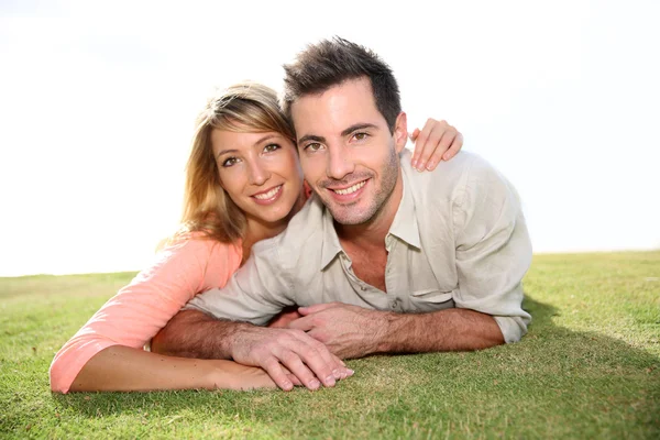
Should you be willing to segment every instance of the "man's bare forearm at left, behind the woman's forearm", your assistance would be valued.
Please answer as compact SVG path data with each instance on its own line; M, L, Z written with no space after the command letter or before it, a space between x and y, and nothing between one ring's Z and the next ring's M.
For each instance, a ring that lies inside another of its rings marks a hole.
M217 320L199 310L175 315L152 340L151 350L179 358L231 359L231 339L250 323Z

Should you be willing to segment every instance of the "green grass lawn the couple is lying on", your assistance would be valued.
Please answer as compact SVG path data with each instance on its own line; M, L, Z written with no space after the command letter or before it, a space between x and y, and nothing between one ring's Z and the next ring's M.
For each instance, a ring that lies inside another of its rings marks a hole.
M535 256L520 343L350 361L336 388L51 394L132 275L0 278L0 438L660 438L660 252Z

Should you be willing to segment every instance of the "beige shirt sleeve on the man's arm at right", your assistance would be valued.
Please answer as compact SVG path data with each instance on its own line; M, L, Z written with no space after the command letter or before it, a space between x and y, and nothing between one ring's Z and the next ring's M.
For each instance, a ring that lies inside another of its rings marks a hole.
M454 199L453 222L457 307L493 316L507 343L519 341L531 320L522 310L521 285L531 264L531 242L516 190L475 158Z

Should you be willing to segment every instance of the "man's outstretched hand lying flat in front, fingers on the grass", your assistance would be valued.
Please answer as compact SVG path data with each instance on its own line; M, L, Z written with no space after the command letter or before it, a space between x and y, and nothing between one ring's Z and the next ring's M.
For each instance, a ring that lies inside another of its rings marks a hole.
M232 336L231 345L234 361L261 366L285 391L294 385L334 386L353 375L323 343L300 330L245 326Z

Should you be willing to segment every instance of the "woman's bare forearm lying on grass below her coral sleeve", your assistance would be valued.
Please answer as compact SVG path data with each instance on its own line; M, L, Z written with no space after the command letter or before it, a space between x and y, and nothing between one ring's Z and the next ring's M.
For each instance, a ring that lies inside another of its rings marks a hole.
M193 388L274 388L261 369L232 361L173 358L123 345L109 346L80 370L70 392L146 392Z

